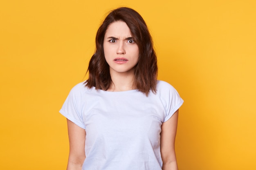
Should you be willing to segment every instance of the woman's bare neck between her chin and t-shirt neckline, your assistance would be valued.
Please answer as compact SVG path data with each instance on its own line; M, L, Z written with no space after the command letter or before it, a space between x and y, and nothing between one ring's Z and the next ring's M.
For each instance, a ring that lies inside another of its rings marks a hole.
M112 84L108 91L129 91L135 89L134 72L111 73Z

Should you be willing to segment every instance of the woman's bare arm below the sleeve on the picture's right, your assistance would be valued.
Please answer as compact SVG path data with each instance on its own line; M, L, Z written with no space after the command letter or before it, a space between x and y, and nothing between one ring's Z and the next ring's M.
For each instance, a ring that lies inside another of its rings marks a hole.
M160 150L163 160L162 170L178 170L175 155L175 136L177 131L178 113L179 110L177 110L173 116L161 126Z

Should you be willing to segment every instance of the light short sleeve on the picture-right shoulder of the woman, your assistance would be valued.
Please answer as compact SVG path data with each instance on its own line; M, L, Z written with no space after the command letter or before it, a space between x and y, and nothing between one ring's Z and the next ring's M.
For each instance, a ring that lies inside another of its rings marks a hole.
M159 81L159 96L165 107L164 121L167 121L182 106L183 99L180 97L176 89L164 81Z

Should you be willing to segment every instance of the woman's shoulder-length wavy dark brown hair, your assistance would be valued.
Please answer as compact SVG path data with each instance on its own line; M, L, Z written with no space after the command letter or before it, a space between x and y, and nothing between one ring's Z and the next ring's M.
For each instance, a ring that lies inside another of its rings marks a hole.
M156 92L157 82L157 57L153 49L153 42L145 21L135 10L121 7L111 11L96 35L96 50L89 62L89 78L85 86L96 89L108 90L112 80L109 65L105 60L103 40L108 26L116 21L124 21L129 27L132 37L139 47L139 60L135 66L134 86L142 93L148 95L149 91Z

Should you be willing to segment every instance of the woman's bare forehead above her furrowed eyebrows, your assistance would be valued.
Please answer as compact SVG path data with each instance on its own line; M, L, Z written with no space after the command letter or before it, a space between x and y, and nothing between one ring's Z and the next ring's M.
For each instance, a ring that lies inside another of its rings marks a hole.
M105 36L124 36L130 37L131 32L129 27L124 21L116 21L109 24L108 29L106 30Z

